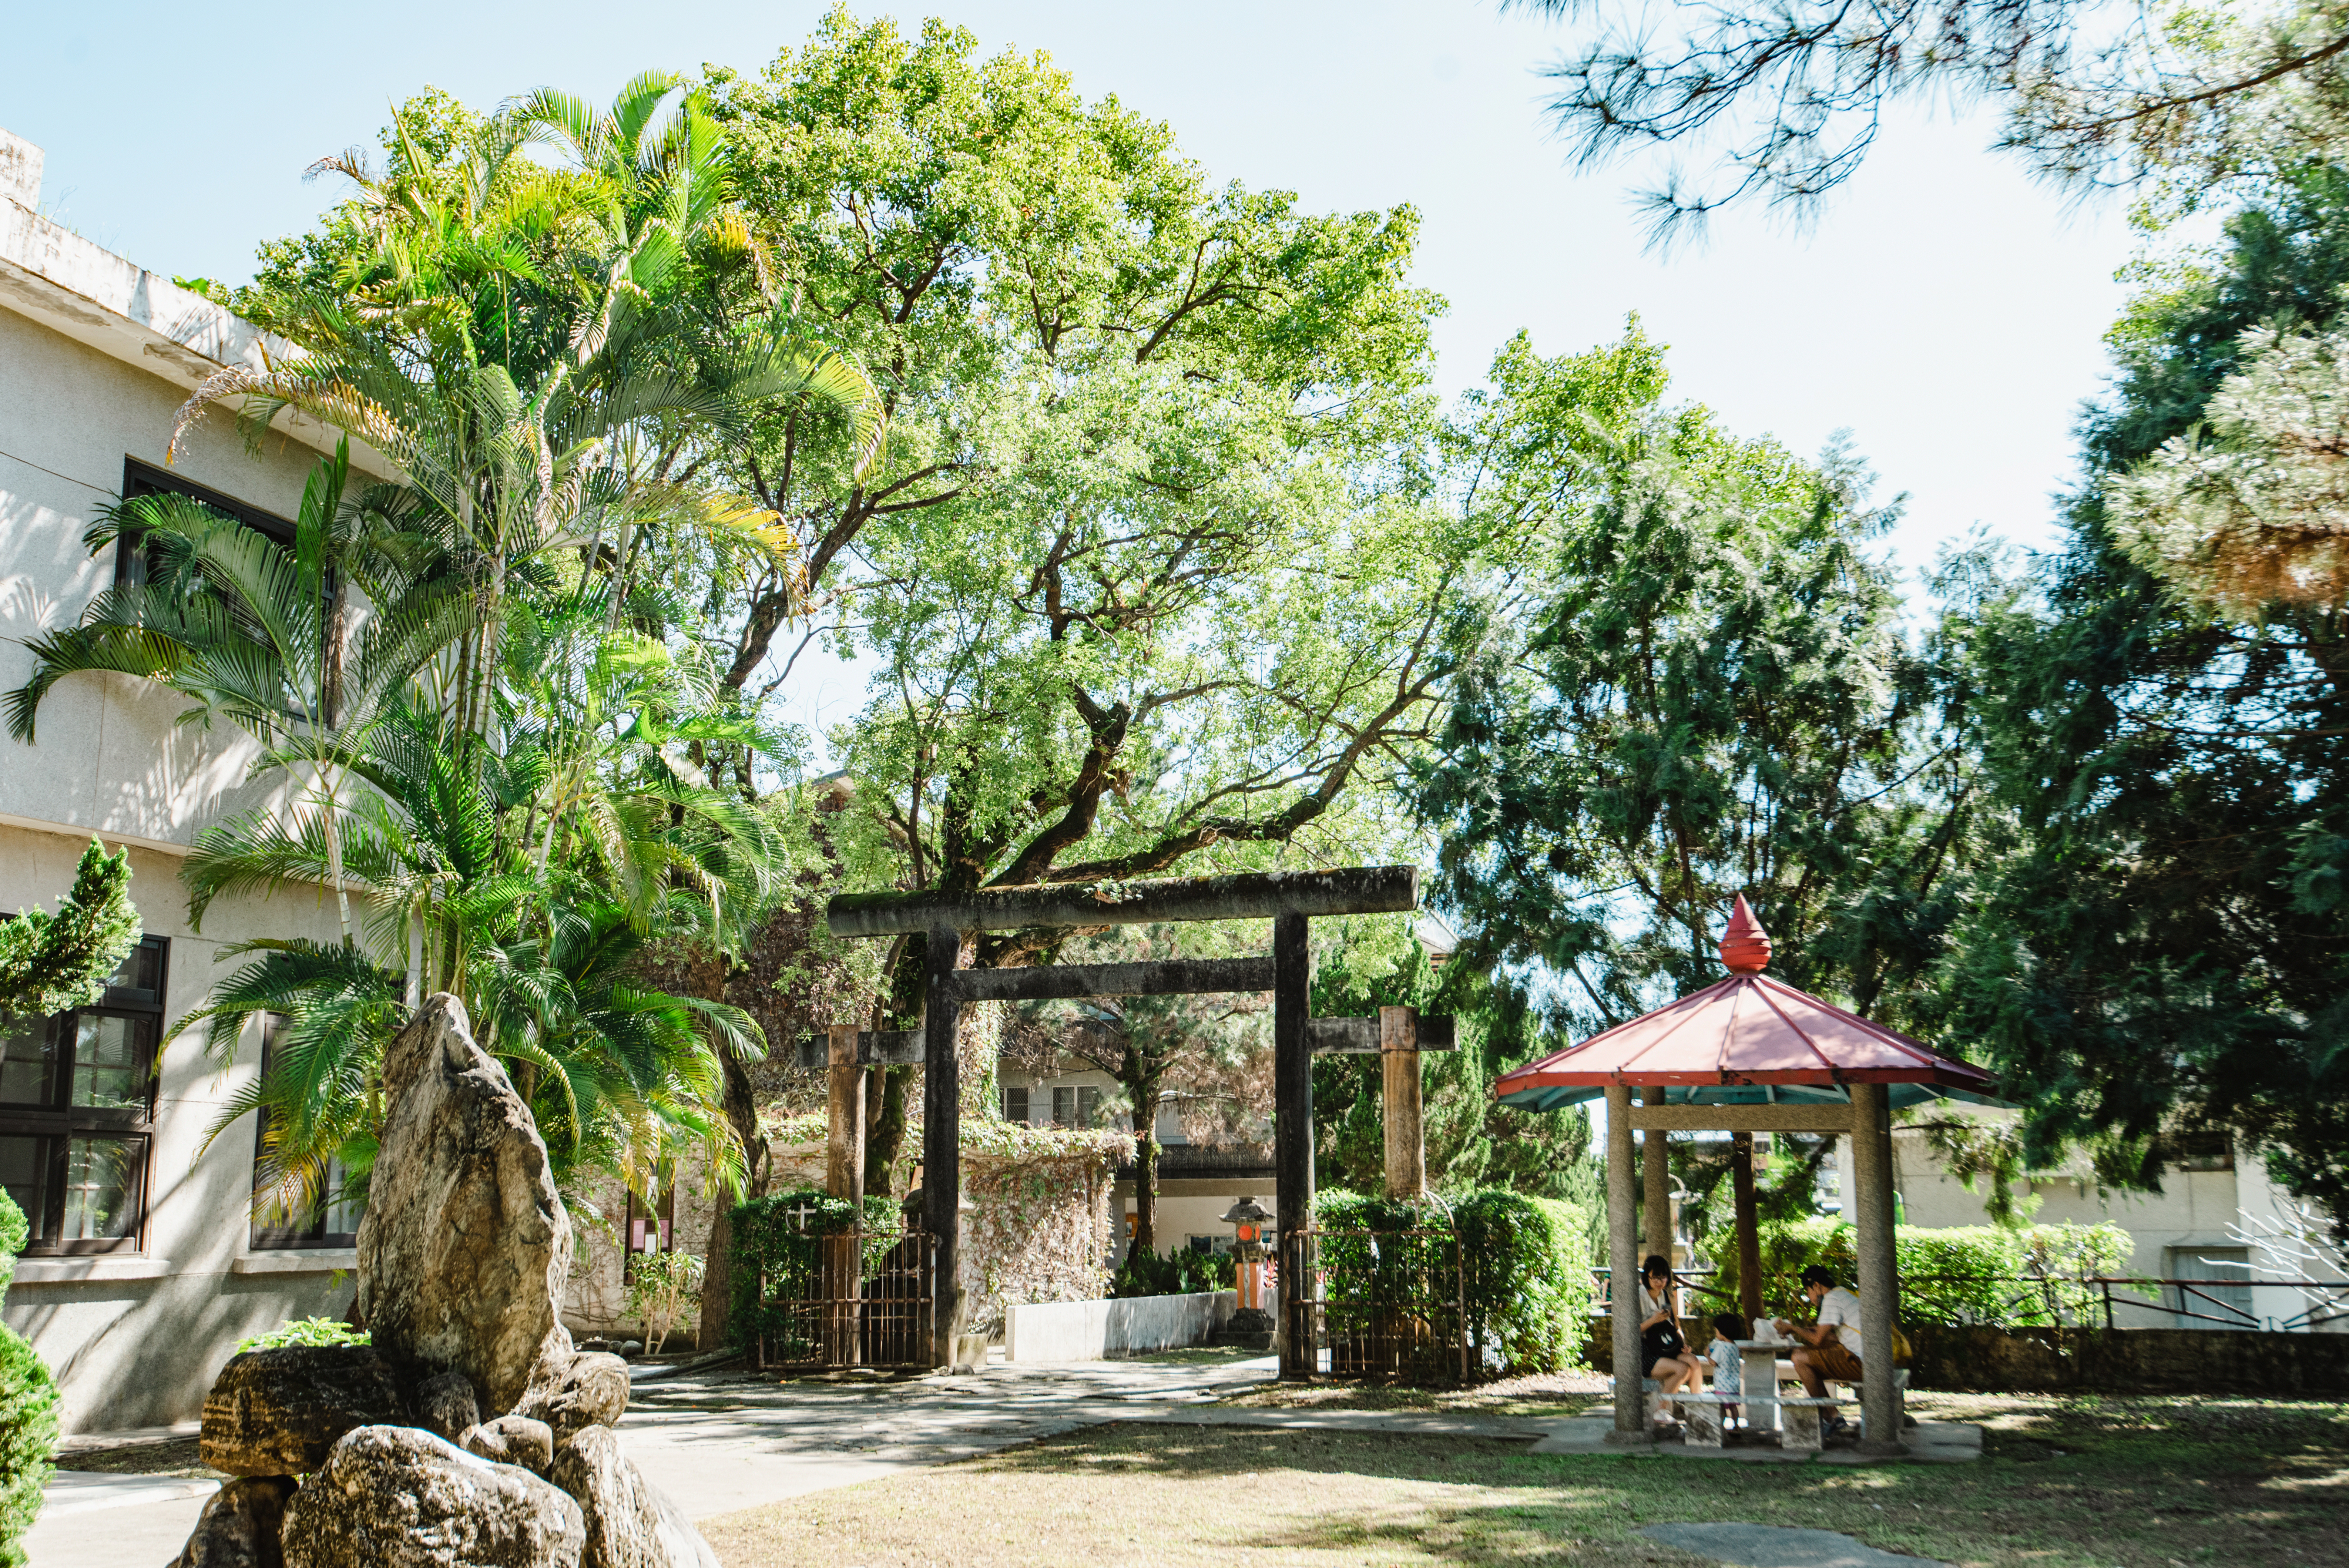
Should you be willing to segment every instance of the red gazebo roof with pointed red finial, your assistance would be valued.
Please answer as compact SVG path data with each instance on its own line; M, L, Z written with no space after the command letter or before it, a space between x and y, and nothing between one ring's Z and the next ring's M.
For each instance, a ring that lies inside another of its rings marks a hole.
M1708 1106L1844 1101L1846 1084L1893 1084L1893 1106L1997 1094L1983 1068L1764 976L1769 937L1745 894L1722 960L1729 979L1529 1061L1501 1075L1494 1096L1550 1110L1597 1099L1609 1084L1663 1087L1665 1101Z

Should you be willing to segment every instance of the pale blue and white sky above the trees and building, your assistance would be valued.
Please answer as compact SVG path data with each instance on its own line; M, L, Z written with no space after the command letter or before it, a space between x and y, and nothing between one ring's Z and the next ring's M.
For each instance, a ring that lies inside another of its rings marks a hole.
M822 9L28 7L9 19L0 129L45 148L52 216L157 272L242 282L261 239L336 197L301 171L371 146L395 99L425 85L474 106L540 85L608 99L648 66L754 70ZM1670 345L1677 399L1804 455L1849 432L1879 498L1907 495L1884 549L1910 573L1976 526L2055 538L2051 495L2102 387L2133 235L2116 200L2072 204L1987 153L1983 115L1896 117L1809 228L1731 211L1703 246L1654 254L1630 207L1654 171L1571 169L1541 115L1539 68L1567 31L1496 0L857 9L909 28L942 14L987 54L1043 49L1088 99L1167 120L1219 181L1315 209L1409 202L1416 282L1452 303L1435 329L1445 392L1478 385L1517 331L1557 354L1637 312ZM853 685L810 667L799 718L846 718Z

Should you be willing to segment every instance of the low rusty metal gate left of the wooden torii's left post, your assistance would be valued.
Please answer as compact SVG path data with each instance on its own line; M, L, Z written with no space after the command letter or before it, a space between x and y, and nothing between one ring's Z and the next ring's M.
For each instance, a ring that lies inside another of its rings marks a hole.
M761 1371L930 1366L937 1237L839 1230L792 1237L759 1277Z

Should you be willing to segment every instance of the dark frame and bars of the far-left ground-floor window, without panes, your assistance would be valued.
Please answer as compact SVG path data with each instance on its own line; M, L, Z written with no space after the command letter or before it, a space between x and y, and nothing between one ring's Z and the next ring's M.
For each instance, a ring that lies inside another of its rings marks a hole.
M14 915L9 915L14 918ZM75 1258L94 1253L143 1253L148 1249L148 1218L150 1218L150 1195L153 1195L153 1167L155 1167L155 1096L157 1096L157 1059L162 1047L162 1021L164 1021L164 998L171 988L171 939L169 937L141 937L132 955L153 953L155 960L155 986L108 986L106 993L89 1002L87 1007L68 1007L66 1012L49 1014L40 1021L56 1042L49 1059L52 1089L47 1103L0 1103L0 1136L7 1138L38 1138L45 1145L47 1171L42 1176L47 1195L42 1202L42 1214L26 1214L31 1235L26 1237L26 1258ZM124 960L129 962L129 960ZM73 1077L80 1066L80 1019L82 1014L96 1016L129 1016L146 1026L146 1061L134 1070L143 1084L139 1106L73 1106ZM120 1237L75 1237L59 1239L66 1228L66 1197L68 1197L68 1171L73 1160L75 1138L106 1138L110 1143L134 1145L132 1171L136 1181L136 1223ZM38 1148L40 1148L38 1145ZM47 1239L45 1239L47 1237Z

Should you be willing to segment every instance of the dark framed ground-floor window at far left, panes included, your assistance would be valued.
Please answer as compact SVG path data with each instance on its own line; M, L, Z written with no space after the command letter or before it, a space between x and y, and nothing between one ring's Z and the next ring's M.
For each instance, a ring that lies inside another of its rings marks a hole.
M94 1005L0 1033L0 1188L31 1223L28 1256L146 1244L169 969L169 939L146 937Z

